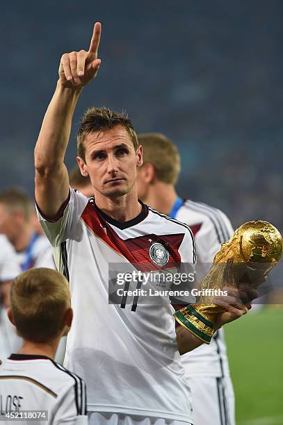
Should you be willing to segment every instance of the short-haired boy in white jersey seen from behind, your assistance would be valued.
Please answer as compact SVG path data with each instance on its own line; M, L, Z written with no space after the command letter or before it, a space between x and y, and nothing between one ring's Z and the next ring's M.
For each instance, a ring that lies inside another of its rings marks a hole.
M10 297L8 316L23 344L0 366L0 420L88 424L85 383L54 362L72 323L67 280L51 269L31 269L15 279Z

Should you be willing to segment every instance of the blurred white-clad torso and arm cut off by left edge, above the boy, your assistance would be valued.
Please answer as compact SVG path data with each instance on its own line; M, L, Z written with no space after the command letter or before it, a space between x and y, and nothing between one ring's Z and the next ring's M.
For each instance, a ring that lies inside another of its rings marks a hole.
M20 274L17 256L13 245L6 235L0 234L0 359L6 358L11 349L19 347L20 338L17 337L13 325L7 317L7 308L10 306L10 284Z

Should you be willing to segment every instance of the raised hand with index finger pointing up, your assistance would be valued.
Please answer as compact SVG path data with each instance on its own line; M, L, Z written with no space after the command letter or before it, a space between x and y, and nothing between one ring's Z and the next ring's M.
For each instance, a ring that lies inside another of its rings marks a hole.
M97 76L101 63L97 59L102 26L97 22L93 28L92 39L88 51L72 51L64 53L59 66L60 85L65 88L82 88Z

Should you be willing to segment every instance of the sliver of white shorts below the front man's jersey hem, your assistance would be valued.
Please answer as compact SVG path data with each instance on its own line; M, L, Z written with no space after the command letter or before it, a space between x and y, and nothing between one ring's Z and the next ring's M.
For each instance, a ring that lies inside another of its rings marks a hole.
M123 415L122 413L112 412L88 412L88 423L89 425L193 425L189 422L172 419Z

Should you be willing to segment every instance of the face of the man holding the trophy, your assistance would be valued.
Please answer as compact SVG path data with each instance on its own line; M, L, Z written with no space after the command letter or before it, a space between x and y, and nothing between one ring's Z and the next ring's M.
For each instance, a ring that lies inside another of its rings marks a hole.
M86 162L77 158L81 174L90 176L95 191L109 197L121 197L136 183L136 167L142 165L142 149L134 150L126 128L116 126L86 136Z

